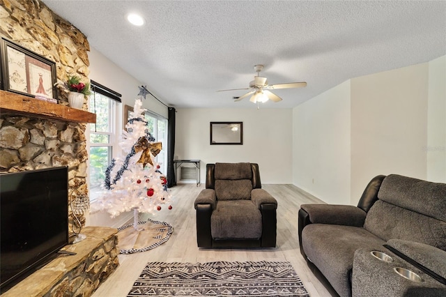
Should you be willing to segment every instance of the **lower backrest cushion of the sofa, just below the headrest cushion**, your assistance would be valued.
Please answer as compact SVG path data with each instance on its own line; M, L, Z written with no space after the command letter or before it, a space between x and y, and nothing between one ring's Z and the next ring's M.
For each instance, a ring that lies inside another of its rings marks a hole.
M397 238L446 250L446 222L383 200L371 206L364 228L384 241Z

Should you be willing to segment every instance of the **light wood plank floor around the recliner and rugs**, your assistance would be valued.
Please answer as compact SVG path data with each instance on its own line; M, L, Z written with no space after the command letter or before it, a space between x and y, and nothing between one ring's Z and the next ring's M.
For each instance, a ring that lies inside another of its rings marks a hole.
M321 200L294 185L262 185L263 189L277 199L277 248L202 249L197 248L194 199L203 188L203 184L199 187L195 184L180 184L171 188L173 209L151 215L151 219L168 222L174 227L174 234L169 241L147 252L119 254L120 266L100 285L93 297L127 296L133 282L149 261L289 261L312 297L331 296L309 270L300 254L298 242L300 204L323 203ZM142 219L144 218L147 215L143 215Z

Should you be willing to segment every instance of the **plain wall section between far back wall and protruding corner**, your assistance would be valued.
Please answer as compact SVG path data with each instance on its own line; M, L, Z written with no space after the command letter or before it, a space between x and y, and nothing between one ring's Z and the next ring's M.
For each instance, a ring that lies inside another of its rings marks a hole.
M350 81L293 109L293 184L350 203Z

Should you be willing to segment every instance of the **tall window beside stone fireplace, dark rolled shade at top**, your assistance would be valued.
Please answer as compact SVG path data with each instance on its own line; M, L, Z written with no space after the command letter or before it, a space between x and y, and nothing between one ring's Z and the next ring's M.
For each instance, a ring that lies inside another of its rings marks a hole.
M96 124L90 124L89 139L89 192L93 201L100 195L105 170L112 162L116 142L116 101L121 95L91 81L93 94L89 98L89 112L96 114ZM117 98L117 99L116 99Z

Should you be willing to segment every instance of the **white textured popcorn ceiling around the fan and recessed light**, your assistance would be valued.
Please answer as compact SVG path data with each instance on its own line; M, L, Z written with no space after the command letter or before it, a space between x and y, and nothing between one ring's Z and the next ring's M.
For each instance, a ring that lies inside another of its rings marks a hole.
M289 108L341 82L446 54L446 1L43 0L90 45L174 107L254 107L254 65ZM146 24L132 26L131 12ZM112 86L110 86L112 87ZM135 88L135 97L138 89Z

